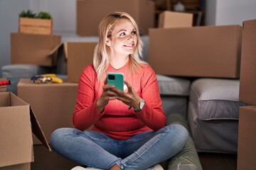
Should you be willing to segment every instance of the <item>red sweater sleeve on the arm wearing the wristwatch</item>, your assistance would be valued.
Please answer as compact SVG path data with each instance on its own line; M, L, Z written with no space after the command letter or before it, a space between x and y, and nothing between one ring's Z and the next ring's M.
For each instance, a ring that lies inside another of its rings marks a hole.
M137 117L152 130L159 130L166 125L166 116L161 106L159 85L156 74L151 67L146 66L141 79L142 98L145 105L142 111L135 113Z

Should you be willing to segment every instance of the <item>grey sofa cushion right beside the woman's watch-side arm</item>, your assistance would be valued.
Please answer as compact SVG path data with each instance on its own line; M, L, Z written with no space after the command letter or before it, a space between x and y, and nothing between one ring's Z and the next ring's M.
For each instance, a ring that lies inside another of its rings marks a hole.
M188 96L191 81L176 77L156 74L161 95Z

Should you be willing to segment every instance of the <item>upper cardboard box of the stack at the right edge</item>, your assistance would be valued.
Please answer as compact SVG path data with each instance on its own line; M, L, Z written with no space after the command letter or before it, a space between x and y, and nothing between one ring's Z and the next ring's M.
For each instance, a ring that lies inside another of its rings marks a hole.
M244 21L242 29L242 55L239 99L256 105L256 20Z

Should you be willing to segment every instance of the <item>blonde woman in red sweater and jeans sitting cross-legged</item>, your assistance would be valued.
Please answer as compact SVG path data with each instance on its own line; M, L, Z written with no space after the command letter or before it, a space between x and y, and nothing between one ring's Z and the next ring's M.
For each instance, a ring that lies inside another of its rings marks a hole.
M103 18L93 64L80 75L75 128L53 132L55 152L97 169L143 170L183 148L188 132L181 125L166 126L156 74L141 54L132 16L115 12ZM124 74L124 91L107 84L107 72ZM156 167L161 166L151 169Z

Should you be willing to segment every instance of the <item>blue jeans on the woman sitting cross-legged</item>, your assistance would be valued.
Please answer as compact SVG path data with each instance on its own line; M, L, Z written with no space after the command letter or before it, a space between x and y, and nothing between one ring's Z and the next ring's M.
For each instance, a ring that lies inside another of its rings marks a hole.
M157 131L134 135L128 140L114 140L91 130L60 128L50 137L55 152L98 169L110 169L118 164L121 169L146 169L178 153L188 140L182 125L168 125Z

